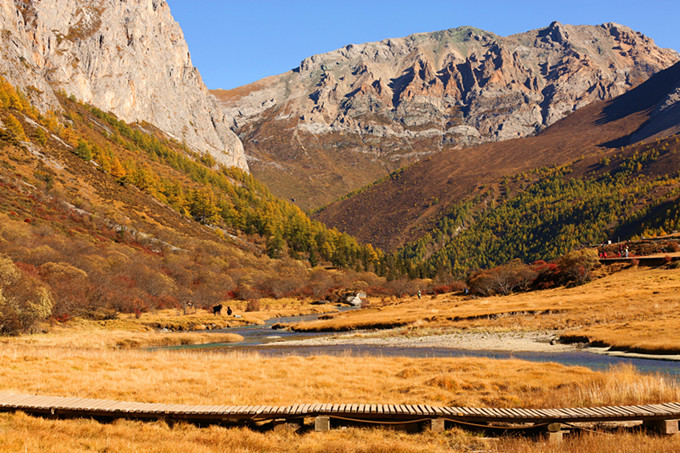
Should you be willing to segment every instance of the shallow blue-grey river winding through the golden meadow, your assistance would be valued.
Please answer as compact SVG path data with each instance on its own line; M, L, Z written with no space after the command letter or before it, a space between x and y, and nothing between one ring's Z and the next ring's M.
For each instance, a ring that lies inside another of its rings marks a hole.
M168 349L210 349L211 351L257 352L263 356L283 355L338 355L374 357L486 357L492 359L522 359L532 362L556 362L570 366L584 366L593 370L606 370L619 364L631 364L641 372L663 373L680 376L680 362L636 357L616 357L588 352L588 349L568 352L506 352L487 350L463 350L442 347L417 346L376 346L376 345L286 345L286 341L327 336L327 332L307 333L288 330L274 330L277 323L311 321L318 314L291 316L268 320L264 325L232 327L215 330L220 333L236 333L243 337L240 343L212 343L203 345L176 346Z

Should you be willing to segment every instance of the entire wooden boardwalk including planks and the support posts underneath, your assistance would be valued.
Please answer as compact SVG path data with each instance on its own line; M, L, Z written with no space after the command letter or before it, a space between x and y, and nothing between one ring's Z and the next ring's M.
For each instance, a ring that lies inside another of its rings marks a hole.
M206 406L134 403L77 397L0 393L0 412L21 411L56 418L163 420L197 425L314 427L383 425L416 431L453 426L491 432L545 432L561 438L574 423L641 422L657 432L678 432L680 403L637 406L510 409L437 407L424 404L295 404L292 406ZM306 423L307 422L307 423ZM565 429L566 428L566 429Z

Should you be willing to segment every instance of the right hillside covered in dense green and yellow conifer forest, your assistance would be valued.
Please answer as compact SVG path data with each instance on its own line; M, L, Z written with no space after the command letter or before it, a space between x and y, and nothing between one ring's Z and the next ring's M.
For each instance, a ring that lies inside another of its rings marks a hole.
M551 268L545 260L574 249L677 231L679 153L680 140L671 137L507 178L504 195L482 192L451 206L428 234L388 259L391 270L464 278L520 260L543 272ZM677 243L657 242L650 250L676 252Z

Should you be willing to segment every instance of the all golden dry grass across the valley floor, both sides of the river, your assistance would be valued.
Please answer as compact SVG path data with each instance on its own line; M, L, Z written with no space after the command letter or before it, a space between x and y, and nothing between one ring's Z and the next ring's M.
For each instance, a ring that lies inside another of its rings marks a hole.
M676 300L673 295L679 276L676 270L630 269L583 287L499 298L466 300L447 295L420 301L405 300L402 304L385 300L384 305L379 305L376 301L370 309L337 315L323 322L364 319L365 314L380 316L383 322L394 319L390 318L393 313L402 317L407 313L412 316L409 322L414 323L414 331L419 329L417 326L458 323L458 328L512 329L515 326L516 329L532 329L550 325L580 332L607 325L588 322L597 312L599 319L611 321L612 332L619 328L617 323L623 322L622 318L630 316L633 319L633 313L639 317L638 326L648 323L653 328L660 328L661 323L672 326L669 323L675 319L673 310L668 310L665 317L658 314L662 304L672 304ZM628 283L624 289L617 287L622 282ZM605 290L609 288L611 291ZM607 295L614 304L622 304L623 300L629 302L625 308L610 306ZM478 307L473 307L474 303ZM495 308L492 309L492 305ZM433 311L435 306L439 307L438 312ZM559 309L554 313L528 314L555 307ZM312 309L316 307L293 301L263 303L261 312L244 312L244 318L236 321L240 323L246 316L266 319L272 316L271 313L305 313ZM473 314L477 316L496 309L496 313L516 313L471 318ZM653 324L655 314L659 323L656 326ZM470 319L446 320L452 316ZM180 325L192 317L195 319L189 324L195 322L195 325L217 318L205 313L183 315L165 311L110 321L73 320L65 325L47 327L46 333L3 338L0 342L0 391L224 405L383 403L544 408L680 401L680 384L674 378L643 374L631 366L596 372L582 367L512 359L350 355L266 357L234 351L142 349L160 344L238 341L225 334L161 332L149 327L153 323ZM640 330L640 335L642 332ZM648 335L652 336L651 333ZM126 337L128 341L125 341ZM634 430L583 432L555 445L541 438L484 438L459 429L443 433L425 430L416 434L384 428L347 428L330 432L260 431L245 427L197 427L126 420L100 423L87 419L44 419L22 413L0 414L1 452L678 450L678 436L663 437Z

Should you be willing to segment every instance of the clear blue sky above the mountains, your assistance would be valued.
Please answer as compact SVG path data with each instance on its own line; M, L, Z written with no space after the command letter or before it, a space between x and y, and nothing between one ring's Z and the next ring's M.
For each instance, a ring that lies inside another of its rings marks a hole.
M616 22L680 51L680 0L167 0L210 89L235 88L347 44L469 25L507 36Z

